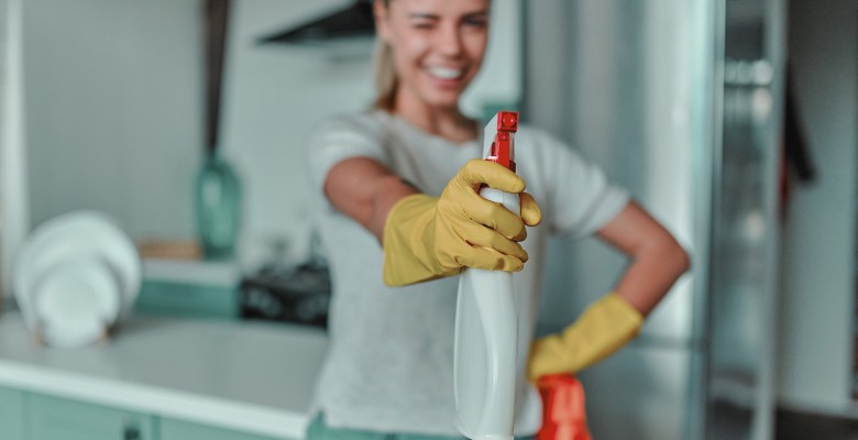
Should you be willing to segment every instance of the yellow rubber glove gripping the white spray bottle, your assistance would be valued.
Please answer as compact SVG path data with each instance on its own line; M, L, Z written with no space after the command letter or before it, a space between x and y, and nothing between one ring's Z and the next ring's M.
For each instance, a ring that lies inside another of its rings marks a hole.
M482 185L519 194L521 216L477 194ZM527 252L517 242L542 215L525 180L502 165L469 161L441 197L415 194L391 208L384 224L384 282L404 286L455 275L464 267L520 271Z

